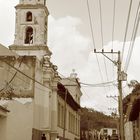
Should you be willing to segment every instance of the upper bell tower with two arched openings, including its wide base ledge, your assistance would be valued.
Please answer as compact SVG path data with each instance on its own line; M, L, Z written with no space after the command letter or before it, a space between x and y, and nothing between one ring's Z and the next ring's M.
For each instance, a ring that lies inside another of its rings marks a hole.
M9 48L19 55L40 58L46 53L51 55L47 47L49 12L46 0L19 0L15 9L15 38Z

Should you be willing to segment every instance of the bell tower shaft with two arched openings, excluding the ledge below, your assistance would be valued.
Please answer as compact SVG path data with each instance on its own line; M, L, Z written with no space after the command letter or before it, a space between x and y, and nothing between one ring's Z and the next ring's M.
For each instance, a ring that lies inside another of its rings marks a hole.
M48 9L46 0L20 0L16 8L14 45L46 45Z

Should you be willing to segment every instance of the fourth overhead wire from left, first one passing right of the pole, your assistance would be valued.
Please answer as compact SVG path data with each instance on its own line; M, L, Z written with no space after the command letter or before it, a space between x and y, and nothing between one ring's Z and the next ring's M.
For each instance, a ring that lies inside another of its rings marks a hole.
M124 55L126 37L127 37L127 32L128 32L128 25L129 25L129 19L130 19L131 8L132 8L132 0L130 0L128 15L127 15L127 21L126 21L126 27L125 27L125 35L124 35L123 46L122 46L121 61L123 61L123 55Z

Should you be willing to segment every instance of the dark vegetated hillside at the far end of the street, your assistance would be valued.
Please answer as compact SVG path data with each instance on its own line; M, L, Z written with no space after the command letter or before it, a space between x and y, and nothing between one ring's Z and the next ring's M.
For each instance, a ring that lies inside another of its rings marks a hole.
M117 120L94 109L81 109L81 130L100 130L104 127L117 128Z

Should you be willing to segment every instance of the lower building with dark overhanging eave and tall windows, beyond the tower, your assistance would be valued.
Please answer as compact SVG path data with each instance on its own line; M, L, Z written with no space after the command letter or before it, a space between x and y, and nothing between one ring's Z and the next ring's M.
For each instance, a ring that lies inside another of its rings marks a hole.
M80 138L80 84L76 73L61 79L58 84L58 130L60 137ZM63 131L62 129L63 128Z

